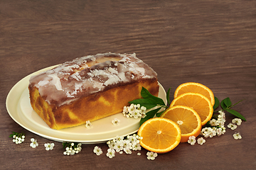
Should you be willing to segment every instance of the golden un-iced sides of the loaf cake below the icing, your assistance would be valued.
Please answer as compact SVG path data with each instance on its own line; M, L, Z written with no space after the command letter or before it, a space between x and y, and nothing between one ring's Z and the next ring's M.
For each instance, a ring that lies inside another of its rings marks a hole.
M91 122L109 115L122 112L129 101L141 98L142 86L148 89L151 94L158 96L159 86L157 79L146 79L125 86L117 86L114 89L91 94L78 101L55 107L49 105L38 93L38 89L29 86L31 106L36 113L56 130L70 128Z

